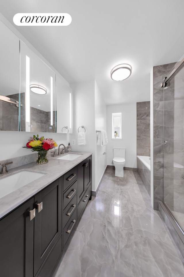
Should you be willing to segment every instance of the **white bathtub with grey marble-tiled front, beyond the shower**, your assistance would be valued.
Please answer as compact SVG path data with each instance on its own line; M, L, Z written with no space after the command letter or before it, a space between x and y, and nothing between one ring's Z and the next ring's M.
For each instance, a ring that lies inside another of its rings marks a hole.
M149 156L137 156L137 172L141 177L148 194L151 196L151 171L149 158Z

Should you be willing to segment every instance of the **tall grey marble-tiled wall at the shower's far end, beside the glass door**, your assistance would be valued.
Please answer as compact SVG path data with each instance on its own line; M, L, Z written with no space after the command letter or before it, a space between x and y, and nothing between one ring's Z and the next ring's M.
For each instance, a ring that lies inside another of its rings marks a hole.
M167 94L165 93L164 98L164 89L160 85L174 65L175 63L169 63L154 66L153 68L154 209L156 210L158 210L158 201L163 201L164 136L168 138L169 135L173 134L173 123L172 120L170 121L173 109L173 100L172 97L170 98L172 89L167 88L168 92ZM164 112L169 119L166 128L164 128ZM168 145L168 149L172 147L171 144Z

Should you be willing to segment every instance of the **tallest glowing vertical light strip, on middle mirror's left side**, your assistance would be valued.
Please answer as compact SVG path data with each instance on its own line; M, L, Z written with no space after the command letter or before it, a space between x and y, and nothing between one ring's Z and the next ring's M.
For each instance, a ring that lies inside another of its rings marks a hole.
M26 122L30 122L30 59L26 56Z

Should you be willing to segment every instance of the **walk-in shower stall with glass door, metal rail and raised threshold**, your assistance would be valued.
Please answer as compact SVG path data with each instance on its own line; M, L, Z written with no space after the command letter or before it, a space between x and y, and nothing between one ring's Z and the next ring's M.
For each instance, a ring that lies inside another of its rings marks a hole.
M159 211L184 257L184 58L163 83L163 200Z

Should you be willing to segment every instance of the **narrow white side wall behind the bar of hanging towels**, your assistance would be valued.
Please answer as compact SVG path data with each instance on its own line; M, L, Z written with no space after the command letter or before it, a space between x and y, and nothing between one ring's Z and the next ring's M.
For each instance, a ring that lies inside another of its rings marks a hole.
M106 117L106 103L101 95L101 92L95 81L95 131L107 129L107 117ZM97 133L95 141L95 190L104 174L107 166L107 155L103 155L103 152L107 152L107 145L97 145Z

